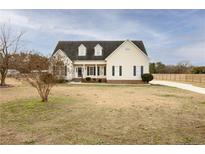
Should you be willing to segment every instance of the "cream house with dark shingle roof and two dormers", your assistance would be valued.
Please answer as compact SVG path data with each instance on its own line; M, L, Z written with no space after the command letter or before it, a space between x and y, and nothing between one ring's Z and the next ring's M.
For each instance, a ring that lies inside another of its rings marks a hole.
M59 41L52 57L61 57L66 80L91 77L110 83L137 83L149 73L142 41ZM55 66L53 66L55 70Z

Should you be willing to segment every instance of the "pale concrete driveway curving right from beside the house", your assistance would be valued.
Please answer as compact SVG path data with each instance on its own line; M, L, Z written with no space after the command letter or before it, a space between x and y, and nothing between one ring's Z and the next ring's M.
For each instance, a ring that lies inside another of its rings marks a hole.
M155 84L155 85L164 85L164 86L176 87L176 88L193 91L193 92L200 93L200 94L205 94L205 88L193 86L191 84L172 82L172 81L164 81L164 80L153 80L150 83Z

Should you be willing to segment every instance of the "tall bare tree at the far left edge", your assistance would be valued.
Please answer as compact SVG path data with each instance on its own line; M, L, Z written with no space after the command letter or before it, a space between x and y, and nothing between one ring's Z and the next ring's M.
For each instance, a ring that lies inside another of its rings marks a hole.
M9 26L0 25L0 73L1 86L4 86L11 55L19 50L23 32L14 33Z

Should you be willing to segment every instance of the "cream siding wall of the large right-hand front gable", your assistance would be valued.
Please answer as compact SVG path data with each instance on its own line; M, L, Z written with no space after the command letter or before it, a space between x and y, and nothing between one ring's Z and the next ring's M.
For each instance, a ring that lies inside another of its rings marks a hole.
M141 66L144 73L149 72L149 58L130 41L125 41L106 60L107 80L141 80ZM112 66L116 66L115 76L112 76ZM116 70L119 66L122 66L122 76ZM133 75L133 66L137 68L136 76Z

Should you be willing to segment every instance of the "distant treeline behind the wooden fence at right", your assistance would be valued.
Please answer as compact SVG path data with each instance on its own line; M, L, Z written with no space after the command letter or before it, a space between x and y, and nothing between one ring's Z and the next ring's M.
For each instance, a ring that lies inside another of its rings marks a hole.
M161 62L150 63L152 74L205 74L205 66L192 66L189 62L180 62L177 65L165 65Z

